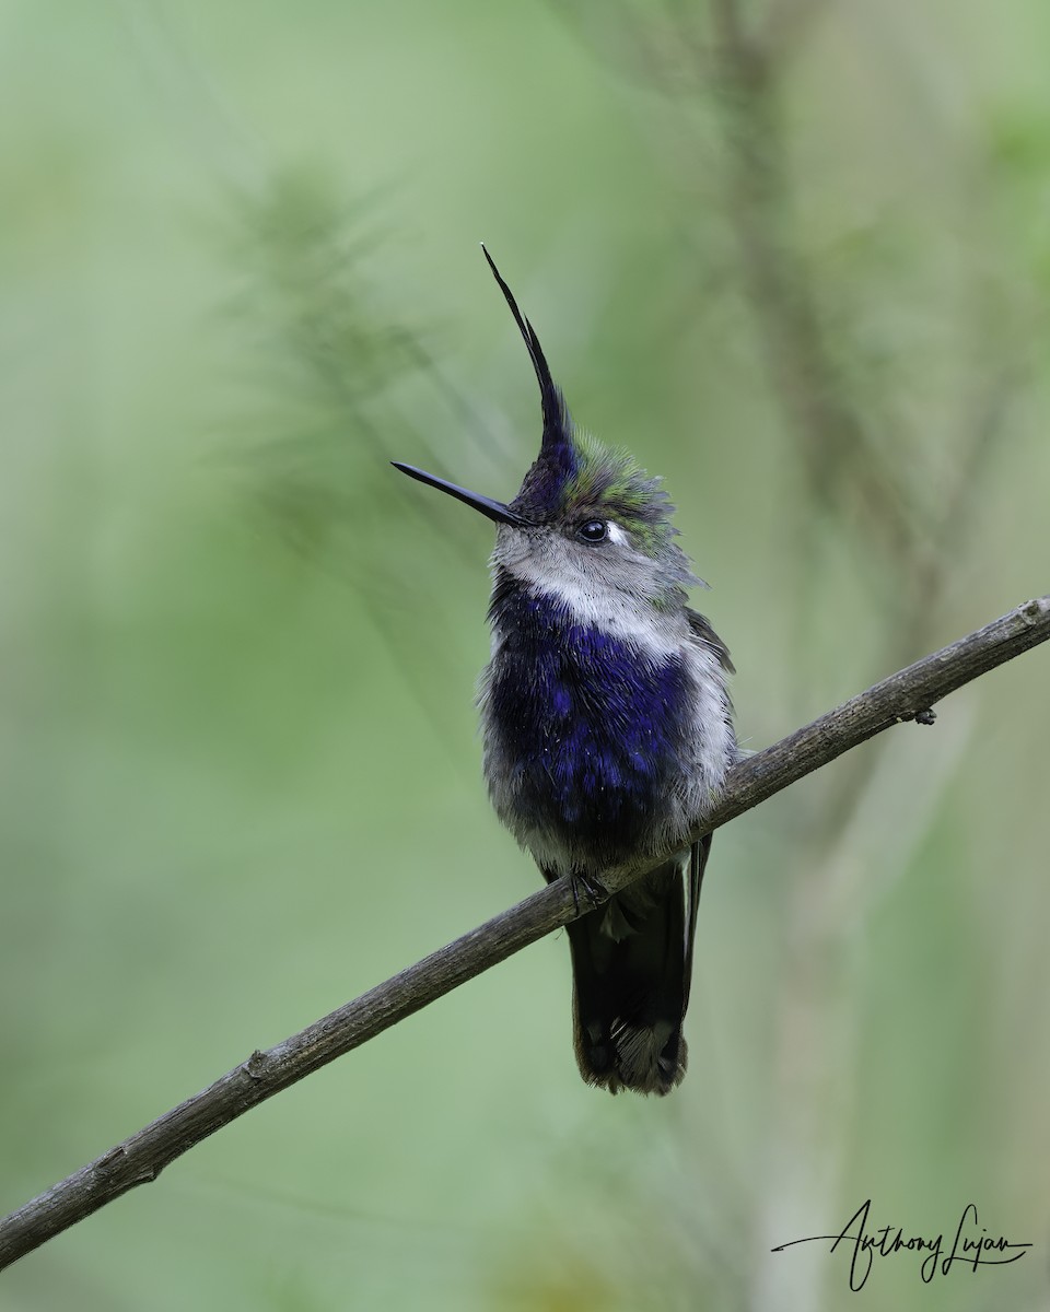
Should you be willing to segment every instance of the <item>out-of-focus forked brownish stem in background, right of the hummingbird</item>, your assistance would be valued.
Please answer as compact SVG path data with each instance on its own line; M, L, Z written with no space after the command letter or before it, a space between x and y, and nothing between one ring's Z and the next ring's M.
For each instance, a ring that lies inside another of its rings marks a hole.
M805 12L803 12L805 10ZM995 388L978 407L959 451L959 476L936 522L928 523L916 496L902 484L885 443L874 441L850 399L822 323L818 289L791 228L791 177L778 83L785 52L778 34L798 37L812 4L781 0L763 30L748 30L739 0L711 0L711 49L702 80L714 92L724 155L724 189L739 248L740 273L764 354L772 392L798 450L806 480L797 516L852 525L856 559L874 568L873 585L887 576L896 622L881 659L892 666L928 639L944 593L945 548L966 514L974 478L996 421ZM782 20L798 13L799 22ZM799 523L801 558L795 668L805 668L806 639L819 602L816 526ZM826 908L844 905L836 850L853 824L878 766L879 752L857 753L836 771L806 817L807 836L790 882L785 976L776 1006L776 1054L770 1102L770 1165L764 1182L759 1248L793 1233L791 1218L815 1224L837 1215L839 1173L850 1132L856 1061L847 932ZM870 903L872 880L861 863L850 876L860 905ZM785 1279L790 1287L785 1287ZM814 1261L769 1258L751 1277L755 1308L814 1309L822 1304L820 1267Z

